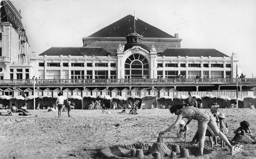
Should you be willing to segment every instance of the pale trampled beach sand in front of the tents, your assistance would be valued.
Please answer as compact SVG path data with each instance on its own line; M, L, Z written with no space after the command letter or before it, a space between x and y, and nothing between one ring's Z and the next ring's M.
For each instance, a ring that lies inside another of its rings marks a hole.
M209 109L207 109L209 110ZM2 110L7 112L7 110ZM139 110L138 115L115 114L119 110L72 110L68 118L63 112L58 119L57 112L46 110L29 110L31 116L0 116L0 158L103 158L100 149L120 144L144 142L152 145L158 133L171 125L177 116L168 109ZM128 111L127 111L128 112ZM226 115L229 124L229 141L234 137L233 131L242 120L247 120L252 133L256 133L255 114L252 109L220 109ZM185 122L187 119L185 119ZM189 124L187 145L192 140L197 121ZM165 133L166 144L184 145L184 138L177 139L176 130ZM218 138L218 141L220 139ZM236 145L236 143L232 143ZM205 147L210 148L209 139ZM218 152L214 158L255 158L255 144L244 144L244 151L231 156L228 148L213 148ZM202 158L202 156L201 156Z

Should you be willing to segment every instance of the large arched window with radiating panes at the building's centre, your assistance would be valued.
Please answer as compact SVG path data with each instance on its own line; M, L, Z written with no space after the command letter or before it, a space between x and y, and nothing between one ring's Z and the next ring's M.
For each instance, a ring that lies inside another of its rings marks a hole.
M124 63L125 78L149 77L148 60L140 54L132 54Z

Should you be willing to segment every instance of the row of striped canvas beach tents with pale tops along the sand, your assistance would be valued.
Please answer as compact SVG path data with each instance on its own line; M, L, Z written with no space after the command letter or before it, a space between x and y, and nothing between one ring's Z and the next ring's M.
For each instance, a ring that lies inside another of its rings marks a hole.
M65 95L64 95L65 96ZM219 97L216 97L214 95L204 95L204 96L198 96L198 95L192 95L195 96L197 99L198 105L200 103L203 104L203 108L209 108L212 103L218 103L220 105L220 108L230 108L231 103L236 103L236 98L229 98L228 96L221 95ZM181 104L182 101L185 103L188 103L188 96L186 95L176 95L173 98L169 96L162 96L162 97L156 97L156 96L144 96L139 97L136 95L129 96L128 98L124 98L122 96L116 96L114 98L108 96L108 95L99 95L99 96L92 96L92 95L85 95L83 98L78 95L71 95L69 97L65 96L65 105L67 105L67 102L70 101L71 103L75 104L74 109L88 109L88 105L92 102L95 103L95 101L101 101L101 106L104 104L108 109L112 108L112 103L116 102L119 105L128 105L128 103L131 102L138 102L138 106L140 109L148 109L151 107L153 103L156 104L157 108L161 108L161 105L165 105L165 108L167 108L167 105L174 105L174 104ZM3 105L9 105L11 106L12 103L15 103L16 107L18 109L21 108L23 104L26 104L27 109L34 109L34 98L35 98L35 104L43 105L45 104L46 107L52 106L57 103L58 96L37 96L37 95L29 95L28 97L24 98L22 96L16 96L16 97L10 97L7 95L0 96L0 108L3 108ZM249 103L256 103L256 97L255 96L246 96L244 99L238 99L238 108L250 108Z

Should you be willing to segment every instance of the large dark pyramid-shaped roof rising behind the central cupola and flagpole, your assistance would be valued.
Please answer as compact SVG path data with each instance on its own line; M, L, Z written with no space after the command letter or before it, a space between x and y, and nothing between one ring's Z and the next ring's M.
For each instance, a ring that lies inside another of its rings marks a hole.
M174 38L172 35L169 35L140 19L135 20L135 27L136 32L142 34L145 38ZM134 16L127 15L88 37L126 37L126 35L132 33L133 30Z

